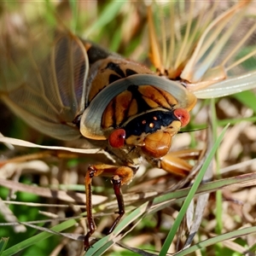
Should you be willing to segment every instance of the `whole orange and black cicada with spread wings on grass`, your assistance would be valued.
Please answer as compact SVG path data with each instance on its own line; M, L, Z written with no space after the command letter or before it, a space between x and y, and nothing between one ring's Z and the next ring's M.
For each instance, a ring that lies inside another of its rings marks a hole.
M42 17L12 11L2 15L2 101L38 131L63 141L83 139L84 153L101 148L115 160L113 165L91 163L85 174L89 224L85 250L96 230L93 177L111 177L113 183L119 216L111 232L125 213L121 187L131 183L142 157L166 172L186 176L191 171L186 160L196 159L200 152L173 154L171 145L188 125L197 98L256 86L256 73L246 73L247 66L255 64L256 53L250 4L145 5L154 71L77 36L58 15L51 29ZM160 27L154 23L157 10Z

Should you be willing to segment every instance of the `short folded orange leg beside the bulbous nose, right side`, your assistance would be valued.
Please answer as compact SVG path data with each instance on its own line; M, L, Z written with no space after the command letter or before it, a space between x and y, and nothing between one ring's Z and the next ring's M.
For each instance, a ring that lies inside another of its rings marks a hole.
M200 156L201 150L199 149L183 149L168 153L158 160L151 160L151 162L154 166L157 166L166 172L186 177L193 168L188 160L199 160Z

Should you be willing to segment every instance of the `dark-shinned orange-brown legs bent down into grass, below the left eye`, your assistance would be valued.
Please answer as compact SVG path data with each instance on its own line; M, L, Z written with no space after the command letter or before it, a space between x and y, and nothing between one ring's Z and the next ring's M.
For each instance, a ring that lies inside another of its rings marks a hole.
M89 231L84 237L84 250L87 251L90 248L89 238L96 230L96 224L92 216L92 201L91 201L91 181L93 177L104 175L111 176L111 182L113 184L114 195L116 196L119 206L119 216L114 220L108 233L111 233L115 226L119 223L119 220L125 214L125 204L122 195L121 186L131 182L131 179L136 170L129 166L111 166L111 165L95 165L89 166L84 178L85 192L86 192L86 211L87 220L89 225Z

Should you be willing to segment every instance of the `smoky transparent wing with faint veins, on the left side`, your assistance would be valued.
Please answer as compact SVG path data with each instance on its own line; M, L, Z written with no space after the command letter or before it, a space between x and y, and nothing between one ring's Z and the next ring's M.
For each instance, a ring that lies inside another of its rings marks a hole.
M73 120L84 111L88 58L78 37L43 19L44 3L1 17L0 96L38 131L73 140L80 136Z

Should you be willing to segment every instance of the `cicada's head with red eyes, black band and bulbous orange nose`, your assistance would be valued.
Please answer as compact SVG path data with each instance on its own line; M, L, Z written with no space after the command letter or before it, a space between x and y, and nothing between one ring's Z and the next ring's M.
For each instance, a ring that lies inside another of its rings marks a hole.
M121 128L112 131L108 142L113 148L139 147L152 158L166 155L172 137L189 123L189 112L184 108L157 109L128 120Z

